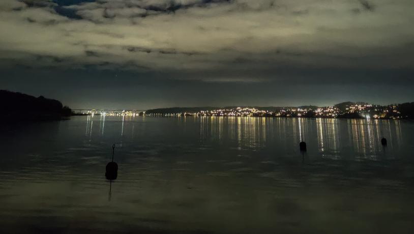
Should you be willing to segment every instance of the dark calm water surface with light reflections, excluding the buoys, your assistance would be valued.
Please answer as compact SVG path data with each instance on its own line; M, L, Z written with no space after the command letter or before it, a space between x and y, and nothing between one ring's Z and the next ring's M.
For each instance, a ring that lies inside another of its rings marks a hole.
M0 233L414 228L410 122L77 116L0 126Z

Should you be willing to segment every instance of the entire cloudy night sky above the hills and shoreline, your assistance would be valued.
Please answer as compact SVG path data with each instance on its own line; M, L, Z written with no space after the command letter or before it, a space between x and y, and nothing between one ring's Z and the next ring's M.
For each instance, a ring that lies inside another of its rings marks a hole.
M414 101L412 0L0 0L0 89L72 108Z

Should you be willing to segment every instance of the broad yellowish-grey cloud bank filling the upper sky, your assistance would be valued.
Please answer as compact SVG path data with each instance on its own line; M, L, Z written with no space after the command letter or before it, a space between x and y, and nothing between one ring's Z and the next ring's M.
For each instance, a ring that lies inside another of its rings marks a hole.
M287 69L412 66L411 0L74 3L2 0L0 66L210 74L209 82L218 73L250 82Z

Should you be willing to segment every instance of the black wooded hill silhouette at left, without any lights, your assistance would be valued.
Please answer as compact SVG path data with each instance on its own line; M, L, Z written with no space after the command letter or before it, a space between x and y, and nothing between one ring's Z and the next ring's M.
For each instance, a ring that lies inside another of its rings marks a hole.
M0 90L0 118L56 120L71 112L69 107L54 99Z

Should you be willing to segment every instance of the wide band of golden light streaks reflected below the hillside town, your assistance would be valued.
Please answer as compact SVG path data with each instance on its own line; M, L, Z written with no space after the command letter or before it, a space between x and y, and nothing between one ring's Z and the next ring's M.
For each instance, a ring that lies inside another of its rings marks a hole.
M313 143L317 140L311 148L317 146L322 158L331 159L350 156L379 159L378 156L382 156L385 150L394 157L394 149L398 150L403 141L401 122L390 120L201 117L186 118L185 121L199 122L201 142L222 140L224 137L237 142L241 150L264 148L268 144L283 146L287 142L295 145L302 140ZM411 127L410 123L406 125ZM388 139L387 149L381 145L382 137Z

